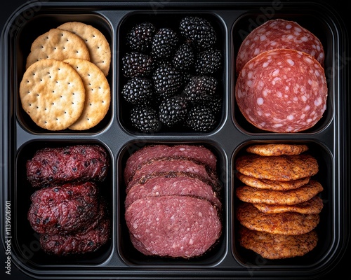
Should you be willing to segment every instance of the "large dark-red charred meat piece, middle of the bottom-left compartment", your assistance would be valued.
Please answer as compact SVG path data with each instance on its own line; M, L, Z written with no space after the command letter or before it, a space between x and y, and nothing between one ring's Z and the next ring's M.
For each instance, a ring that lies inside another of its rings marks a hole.
M77 232L88 228L98 215L94 183L66 183L37 190L27 214L39 233Z

